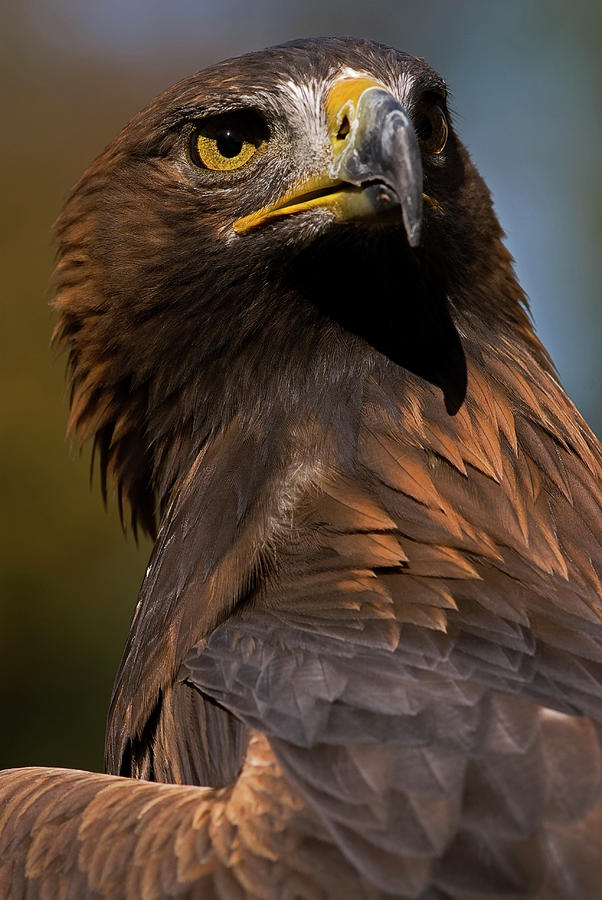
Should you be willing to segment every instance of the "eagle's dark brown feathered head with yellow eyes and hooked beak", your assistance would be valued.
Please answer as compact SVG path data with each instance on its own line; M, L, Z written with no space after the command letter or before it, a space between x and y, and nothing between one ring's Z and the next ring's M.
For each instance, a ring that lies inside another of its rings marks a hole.
M453 414L469 348L539 347L444 81L368 41L298 41L170 88L56 235L70 429L151 533L234 417L328 421L387 366Z

